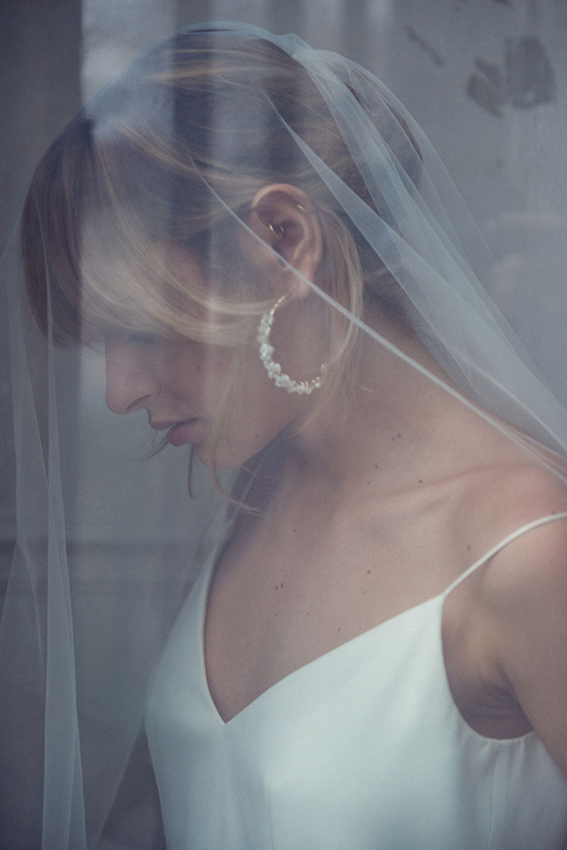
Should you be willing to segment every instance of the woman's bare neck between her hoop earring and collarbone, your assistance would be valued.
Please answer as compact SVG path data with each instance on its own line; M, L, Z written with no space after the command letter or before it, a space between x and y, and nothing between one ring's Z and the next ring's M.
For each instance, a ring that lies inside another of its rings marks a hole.
M407 358L453 386L415 335L384 323L377 331ZM371 337L347 392L337 388L312 420L299 429L295 468L335 489L360 486L362 479L384 487L404 486L430 474L446 455L447 434L457 419L471 416L462 403L393 351Z

